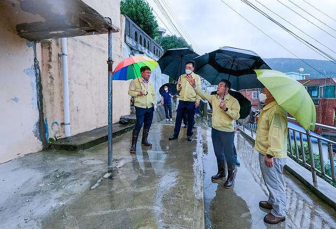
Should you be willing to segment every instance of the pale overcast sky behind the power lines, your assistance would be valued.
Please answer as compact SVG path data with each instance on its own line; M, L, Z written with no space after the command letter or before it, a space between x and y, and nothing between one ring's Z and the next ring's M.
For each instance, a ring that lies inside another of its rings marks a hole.
M162 15L160 9L155 4L154 0L147 0L148 3L153 7L154 11L158 14L157 21L160 27L167 28L175 34L172 30L167 19ZM158 1L158 0L156 0ZM221 0L159 0L161 4L166 1L172 7L178 19L183 24L187 33L193 39L194 43L198 46L196 51L200 55L204 53L209 53L212 50L218 49L222 46L232 46L237 48L250 49L256 52L262 58L276 58L276 57L289 57L296 58L287 50L276 44L273 40L268 38L266 35L262 34L251 24L249 24L245 19L236 14L230 8L228 8ZM305 59L320 59L325 60L323 57L319 56L313 50L309 49L304 44L300 43L290 34L282 30L280 27L276 26L266 17L262 16L243 2L241 0L223 0L237 12L245 16L250 20L255 26L260 28L263 32L267 33L270 37L278 41L280 44L285 46L287 49L291 50L299 58ZM294 27L292 27L287 22L280 19L278 16L274 15L272 12L263 8L255 0L249 0L252 4L267 12L274 19L278 20L286 28L292 30L297 35L306 39L307 41L313 43L319 48L328 52L331 56L336 58L336 54L332 53L330 50L326 49L322 45L318 44L316 41L310 39L305 34L301 33ZM295 14L291 10L287 9L281 5L277 0L258 0L260 3L264 4L272 11L281 15L286 20L295 24L305 33L314 37L324 45L328 46L334 52L336 52L336 39L322 30L310 24L304 18ZM300 13L305 18L317 24L319 27L336 37L336 31L328 28L318 20L309 16L304 11L300 10L297 6L293 5L289 0L279 0L283 4L289 6L296 12ZM336 30L336 21L328 18L324 14L320 13L313 7L309 6L303 0L291 0L292 2L299 5L301 8L305 9L310 14L326 23L328 26ZM323 11L327 15L336 19L336 0L306 0L311 5L317 7L319 10ZM156 15L154 13L154 15ZM163 21L161 21L161 20ZM171 34L167 30L167 34ZM176 34L178 35L178 34ZM182 33L182 35L184 35ZM179 35L178 35L179 36ZM187 40L187 39L186 39ZM190 43L190 42L188 42ZM195 45L193 45L195 48Z

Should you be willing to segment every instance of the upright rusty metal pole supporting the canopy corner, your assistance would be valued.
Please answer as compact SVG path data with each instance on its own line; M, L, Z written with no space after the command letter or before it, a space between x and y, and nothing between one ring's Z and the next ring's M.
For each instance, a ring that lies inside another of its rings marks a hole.
M112 28L108 30L108 154L107 154L107 166L108 169L111 170L113 167L112 162Z

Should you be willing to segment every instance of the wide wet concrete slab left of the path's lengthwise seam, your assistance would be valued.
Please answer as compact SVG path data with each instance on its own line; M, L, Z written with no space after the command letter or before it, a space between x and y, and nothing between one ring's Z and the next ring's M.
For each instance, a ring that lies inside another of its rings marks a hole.
M153 148L138 144L136 155L131 133L114 139L110 177L106 143L1 164L0 228L204 227L202 131L169 141L173 128L153 124Z

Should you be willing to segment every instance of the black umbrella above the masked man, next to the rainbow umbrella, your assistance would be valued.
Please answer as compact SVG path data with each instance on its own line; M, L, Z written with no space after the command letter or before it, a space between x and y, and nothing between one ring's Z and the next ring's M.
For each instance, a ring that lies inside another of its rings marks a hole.
M172 48L166 50L157 62L163 74L177 80L185 71L185 63L198 56L189 48Z

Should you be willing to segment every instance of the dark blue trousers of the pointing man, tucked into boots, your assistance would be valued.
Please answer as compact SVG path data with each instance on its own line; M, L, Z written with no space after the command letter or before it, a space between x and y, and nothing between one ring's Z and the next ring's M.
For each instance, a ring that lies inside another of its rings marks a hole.
M219 160L226 160L228 164L235 164L233 156L234 132L211 130L214 154Z

